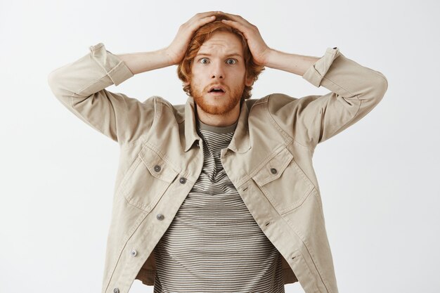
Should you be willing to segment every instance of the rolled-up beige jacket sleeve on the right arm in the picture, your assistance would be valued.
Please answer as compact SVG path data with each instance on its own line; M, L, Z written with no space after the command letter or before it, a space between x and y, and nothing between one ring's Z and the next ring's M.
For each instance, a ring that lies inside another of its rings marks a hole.
M382 100L387 78L376 70L345 57L339 48L327 48L302 76L316 87L330 90L323 96L292 98L273 94L269 108L276 122L298 143L315 148L356 123Z

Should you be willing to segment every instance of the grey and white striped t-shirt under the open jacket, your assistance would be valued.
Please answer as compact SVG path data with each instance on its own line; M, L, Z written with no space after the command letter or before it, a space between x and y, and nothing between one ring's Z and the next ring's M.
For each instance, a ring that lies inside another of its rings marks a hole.
M157 243L154 293L284 292L282 257L261 231L220 160L235 124L198 120L202 173Z

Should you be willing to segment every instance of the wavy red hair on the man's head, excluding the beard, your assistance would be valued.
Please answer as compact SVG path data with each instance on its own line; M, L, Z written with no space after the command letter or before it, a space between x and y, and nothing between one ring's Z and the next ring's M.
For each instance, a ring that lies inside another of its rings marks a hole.
M209 39L214 32L231 32L241 39L243 45L243 57L245 59L246 79L252 78L252 81L255 82L258 79L259 74L264 70L264 66L258 65L254 62L249 46L247 46L247 40L242 32L224 24L221 20L230 20L230 18L221 13L216 14L216 20L199 27L199 29L195 31L190 44L186 49L185 56L177 67L177 75L179 76L179 79L181 79L182 82L188 82L187 86L183 86L183 91L185 91L188 96L192 96L193 94L191 93L189 84L191 82L191 65L193 64L193 60L197 55L200 46L202 46L202 44ZM250 98L252 95L251 90L252 86L245 86L242 98Z

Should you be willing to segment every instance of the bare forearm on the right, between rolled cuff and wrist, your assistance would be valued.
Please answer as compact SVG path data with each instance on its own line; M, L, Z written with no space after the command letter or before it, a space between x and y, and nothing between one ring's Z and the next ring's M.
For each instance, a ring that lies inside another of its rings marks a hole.
M271 49L268 54L268 58L265 66L278 70L284 70L292 72L298 75L304 75L304 73L321 57L304 56L293 53L284 53Z

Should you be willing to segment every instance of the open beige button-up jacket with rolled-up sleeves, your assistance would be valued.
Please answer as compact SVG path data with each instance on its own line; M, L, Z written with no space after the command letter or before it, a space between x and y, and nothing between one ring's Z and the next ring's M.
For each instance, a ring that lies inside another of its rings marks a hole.
M153 285L153 249L203 164L193 98L172 105L157 96L141 102L105 90L132 76L102 43L48 75L53 94L67 109L120 146L103 293L129 292L135 278ZM313 151L370 112L388 83L382 73L346 58L336 47L327 48L303 78L330 92L245 100L221 162L283 255L284 282L299 281L306 293L337 293Z

